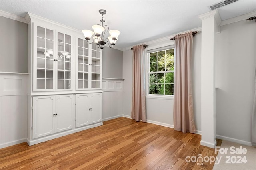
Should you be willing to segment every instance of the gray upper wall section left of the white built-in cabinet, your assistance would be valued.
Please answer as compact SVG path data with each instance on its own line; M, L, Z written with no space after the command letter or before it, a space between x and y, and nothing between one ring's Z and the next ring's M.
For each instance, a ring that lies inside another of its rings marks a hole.
M28 73L28 24L0 16L0 71Z

